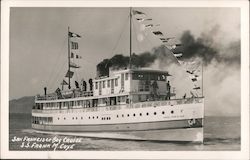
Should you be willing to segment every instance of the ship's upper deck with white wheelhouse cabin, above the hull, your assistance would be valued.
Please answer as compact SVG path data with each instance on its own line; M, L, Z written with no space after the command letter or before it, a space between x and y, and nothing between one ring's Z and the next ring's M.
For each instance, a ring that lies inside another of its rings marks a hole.
M131 95L134 99L149 99L150 95L166 96L167 71L152 69L110 70L109 76L97 77L93 80L92 90L75 88L61 90L59 93L36 96L36 101L51 101L59 99L112 97ZM155 93L153 93L155 92Z

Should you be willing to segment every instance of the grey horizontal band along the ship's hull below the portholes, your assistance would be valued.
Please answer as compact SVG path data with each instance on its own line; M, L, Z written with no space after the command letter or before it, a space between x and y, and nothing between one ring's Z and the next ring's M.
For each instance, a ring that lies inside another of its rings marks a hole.
M164 129L197 128L203 126L203 119L183 119L173 121L136 122L103 125L44 125L32 124L32 128L46 131L74 132L117 132L117 131L148 131Z

